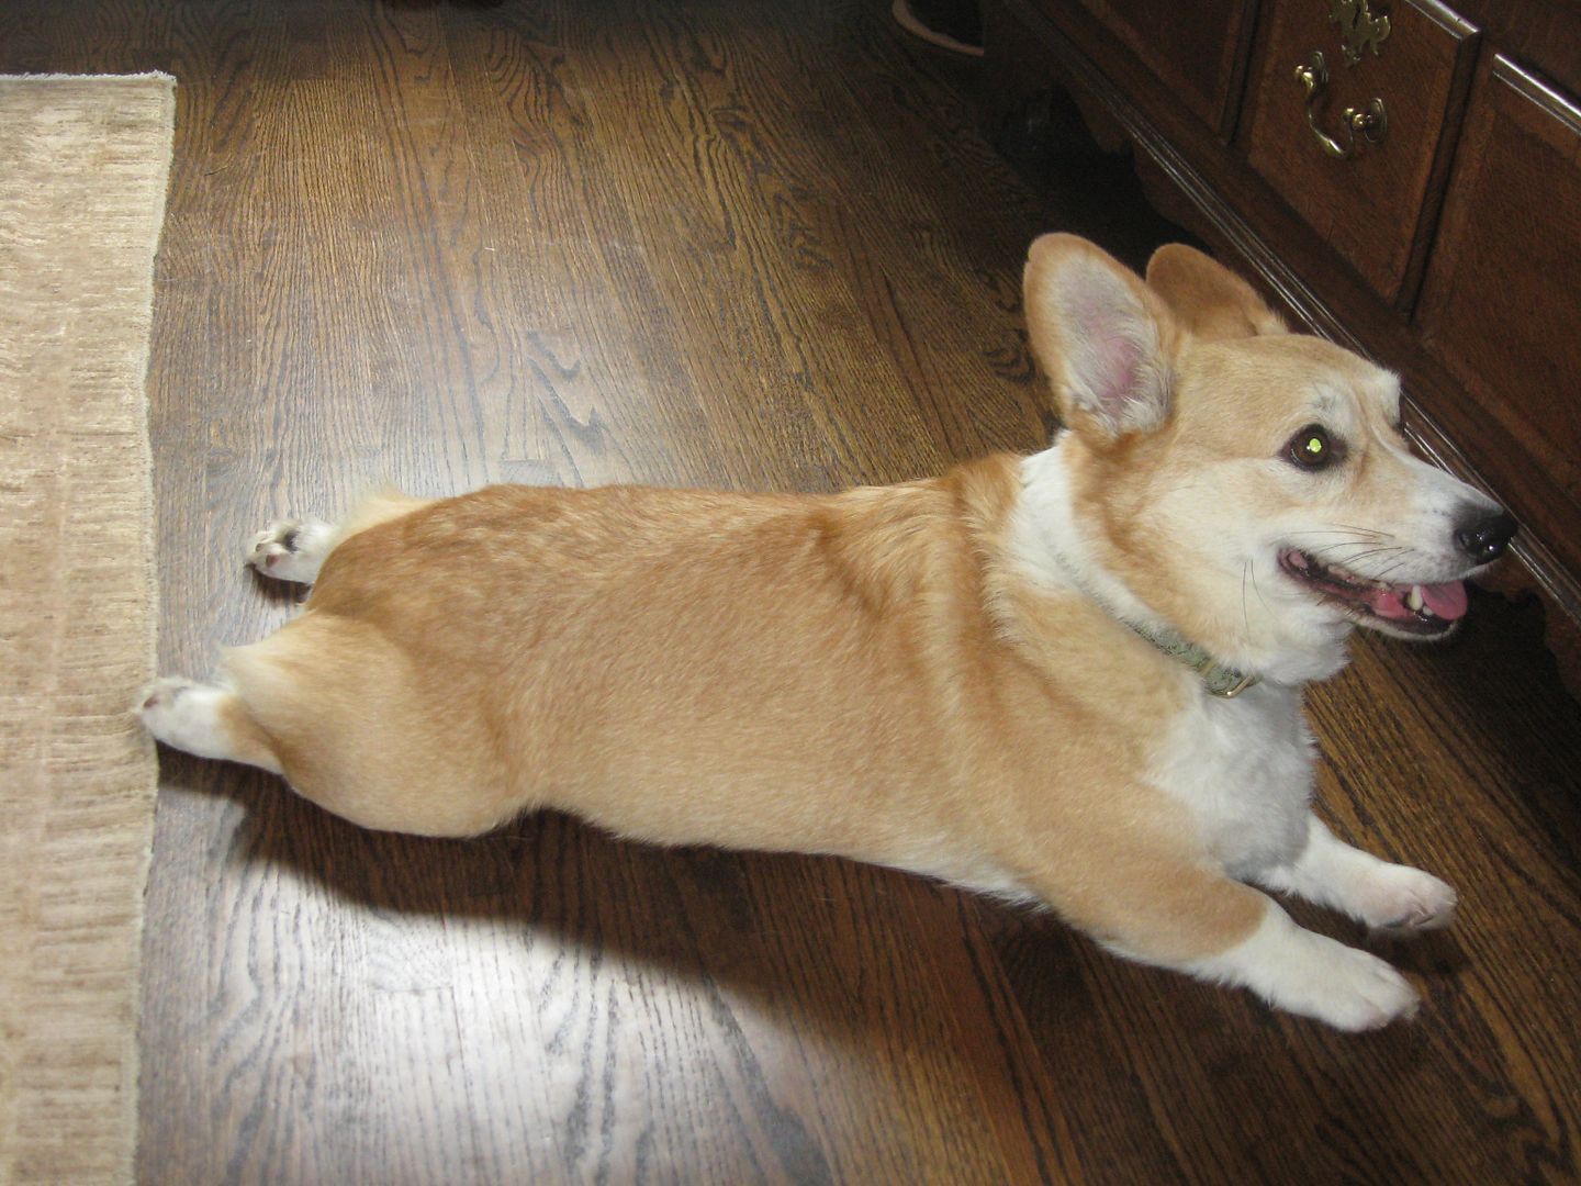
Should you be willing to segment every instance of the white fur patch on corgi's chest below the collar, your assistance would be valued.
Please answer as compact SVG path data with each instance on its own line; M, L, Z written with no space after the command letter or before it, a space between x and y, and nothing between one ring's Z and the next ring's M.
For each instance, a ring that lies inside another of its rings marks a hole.
M1200 696L1165 732L1153 783L1190 810L1224 870L1246 878L1306 843L1315 751L1293 688Z

